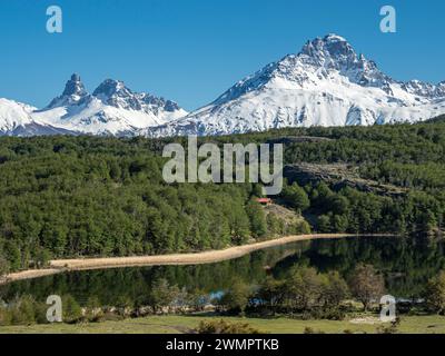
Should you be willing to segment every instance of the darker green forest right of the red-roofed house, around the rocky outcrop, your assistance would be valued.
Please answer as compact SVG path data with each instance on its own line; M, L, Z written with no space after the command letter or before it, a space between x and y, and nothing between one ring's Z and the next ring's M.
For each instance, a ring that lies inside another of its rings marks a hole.
M394 195L332 187L323 180L300 187L310 204L304 202L299 208L317 217L315 228L318 231L442 235L444 117L417 125L283 129L225 139L283 141L287 165L344 164L356 167L360 178L390 185L398 191Z

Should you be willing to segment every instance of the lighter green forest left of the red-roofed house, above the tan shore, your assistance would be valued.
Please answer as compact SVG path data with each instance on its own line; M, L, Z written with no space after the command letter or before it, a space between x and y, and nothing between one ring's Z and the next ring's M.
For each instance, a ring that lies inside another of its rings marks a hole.
M255 197L258 185L167 185L159 142L95 137L0 140L0 266L50 258L217 249L307 233ZM259 191L259 192L258 192Z

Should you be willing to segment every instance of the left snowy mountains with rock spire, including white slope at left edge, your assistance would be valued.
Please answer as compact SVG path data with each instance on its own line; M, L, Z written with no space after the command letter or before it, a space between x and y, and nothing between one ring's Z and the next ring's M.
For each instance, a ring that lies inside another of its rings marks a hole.
M176 102L134 92L122 81L107 79L90 95L78 75L41 110L1 99L0 112L0 135L11 136L131 136L187 115Z

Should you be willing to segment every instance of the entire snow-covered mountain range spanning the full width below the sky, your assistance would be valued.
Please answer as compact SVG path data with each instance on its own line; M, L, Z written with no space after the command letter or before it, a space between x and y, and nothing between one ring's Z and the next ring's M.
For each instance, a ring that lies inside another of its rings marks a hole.
M46 108L0 99L0 135L228 135L285 127L416 122L445 113L445 81L397 81L342 37L307 42L188 113L176 102L105 80L92 93L72 75Z

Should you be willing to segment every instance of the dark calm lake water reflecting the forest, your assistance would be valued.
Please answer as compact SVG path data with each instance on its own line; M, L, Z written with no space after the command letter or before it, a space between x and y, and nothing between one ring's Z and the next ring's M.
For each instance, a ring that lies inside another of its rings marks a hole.
M347 278L360 263L373 265L384 274L389 294L419 297L428 278L445 268L445 243L412 243L402 237L304 241L210 265L73 271L17 281L0 287L0 298L32 295L44 301L49 295L70 294L80 304L96 296L103 305L116 305L122 299L140 300L159 278L211 294L229 287L234 278L258 284L267 275L283 276L293 266L312 266L323 273L337 270Z

